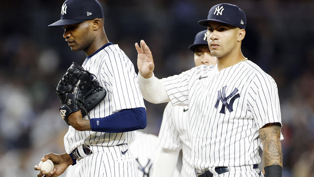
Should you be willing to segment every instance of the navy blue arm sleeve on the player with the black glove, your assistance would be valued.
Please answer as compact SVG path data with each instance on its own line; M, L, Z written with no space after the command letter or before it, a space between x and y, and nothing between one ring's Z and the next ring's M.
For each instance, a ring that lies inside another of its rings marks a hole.
M126 109L105 118L89 120L92 131L121 133L144 129L147 125L145 108Z

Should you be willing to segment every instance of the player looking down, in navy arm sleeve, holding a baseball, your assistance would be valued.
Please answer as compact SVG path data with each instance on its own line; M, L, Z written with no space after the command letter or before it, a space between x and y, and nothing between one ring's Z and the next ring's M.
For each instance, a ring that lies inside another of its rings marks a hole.
M106 90L104 100L82 118L81 112L68 117L64 136L65 153L49 153L54 169L46 174L38 165L37 177L56 177L69 165L72 177L137 177L137 162L128 143L134 131L146 127L146 110L133 64L117 44L108 41L104 13L97 0L66 0L61 20L49 26L63 26L63 37L72 51L82 50L87 58L82 67L95 75Z

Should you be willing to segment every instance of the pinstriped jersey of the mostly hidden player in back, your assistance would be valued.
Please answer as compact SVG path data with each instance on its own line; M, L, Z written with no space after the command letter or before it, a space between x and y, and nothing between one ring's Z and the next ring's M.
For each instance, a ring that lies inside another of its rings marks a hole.
M192 149L189 141L188 106L172 106L168 103L162 117L158 143L162 148L183 152L180 177L193 177Z

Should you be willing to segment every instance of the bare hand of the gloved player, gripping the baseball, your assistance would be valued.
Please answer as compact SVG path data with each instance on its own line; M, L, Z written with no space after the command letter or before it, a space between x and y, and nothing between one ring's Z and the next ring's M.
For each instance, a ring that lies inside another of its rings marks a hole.
M46 174L46 172L39 168L38 164L34 166L34 170L39 170L40 172L37 174L37 177L58 177L63 174L63 172L73 163L72 158L69 154L55 154L49 153L44 155L41 161L46 161L50 159L53 162L54 168L53 170Z

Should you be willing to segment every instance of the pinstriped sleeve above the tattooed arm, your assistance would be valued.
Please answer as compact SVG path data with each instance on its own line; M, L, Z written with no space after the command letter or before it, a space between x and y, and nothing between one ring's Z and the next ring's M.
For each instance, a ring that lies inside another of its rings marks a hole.
M276 82L269 75L256 75L248 95L248 106L259 128L267 123L281 123Z

